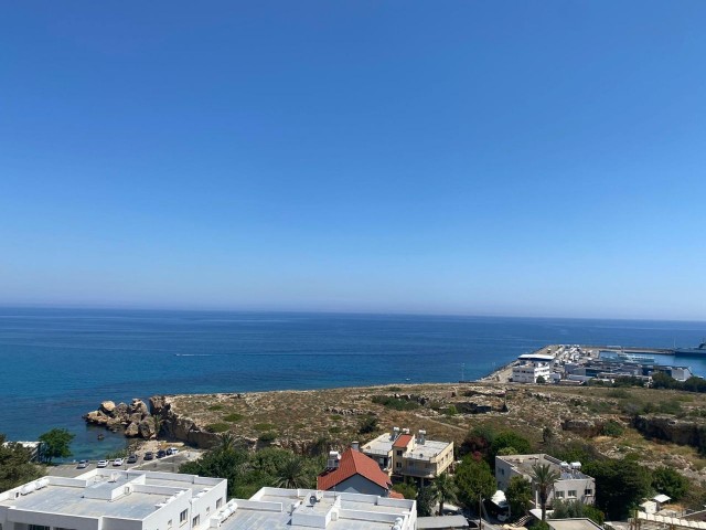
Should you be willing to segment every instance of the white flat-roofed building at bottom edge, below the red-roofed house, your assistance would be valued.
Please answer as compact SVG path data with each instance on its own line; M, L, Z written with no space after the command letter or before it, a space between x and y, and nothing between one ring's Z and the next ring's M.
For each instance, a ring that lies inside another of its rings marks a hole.
M216 513L220 530L417 530L417 502L375 495L263 488Z

